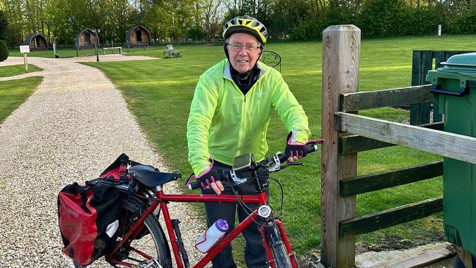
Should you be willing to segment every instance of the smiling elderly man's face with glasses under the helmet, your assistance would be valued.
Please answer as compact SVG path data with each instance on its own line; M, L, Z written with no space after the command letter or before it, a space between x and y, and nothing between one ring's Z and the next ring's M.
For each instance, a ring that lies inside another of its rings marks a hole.
M256 51L249 52L251 47L259 47L260 43L256 37L247 34L247 33L234 33L228 38L228 54L230 56L230 64L239 72L247 72L256 64L258 61L260 49ZM239 51L234 51L233 48L238 48L241 46ZM246 48L248 47L248 48Z

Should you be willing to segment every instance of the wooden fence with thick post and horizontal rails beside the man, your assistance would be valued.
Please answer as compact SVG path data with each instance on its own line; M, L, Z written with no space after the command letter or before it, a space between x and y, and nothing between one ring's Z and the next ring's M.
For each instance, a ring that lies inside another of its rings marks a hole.
M321 157L321 262L326 267L347 268L355 264L357 235L426 217L443 207L442 197L435 197L356 217L358 194L443 175L443 162L437 161L357 177L357 152L403 145L476 164L476 138L443 132L442 122L412 126L357 115L358 110L434 99L430 85L358 92L360 30L356 26L325 29L322 53L322 137L326 142ZM418 55L424 64L436 56L439 65L441 59L457 53L417 51L414 64ZM418 83L424 81L426 67L414 66Z

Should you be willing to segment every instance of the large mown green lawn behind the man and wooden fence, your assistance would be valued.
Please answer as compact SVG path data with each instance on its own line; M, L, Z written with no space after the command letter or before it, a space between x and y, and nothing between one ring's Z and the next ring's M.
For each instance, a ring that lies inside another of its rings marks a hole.
M412 50L470 50L476 36L401 37L362 40L360 91L403 87L411 84ZM270 43L267 50L282 57L282 74L303 106L314 138L321 132L321 42ZM114 81L128 108L173 170L187 177L186 122L196 82L201 73L225 58L220 46L176 46L181 58L87 63L98 67ZM128 55L161 56L162 50L129 52ZM359 114L396 122L408 122L409 112L391 108ZM273 113L268 129L269 154L284 151L288 131ZM358 175L376 173L441 159L440 156L400 146L358 154ZM320 244L320 154L311 154L304 167L289 168L275 177L285 187L283 221L299 254L317 251ZM181 183L184 183L184 179ZM357 215L442 195L442 180L395 187L357 197ZM278 207L279 189L271 185L271 204ZM183 232L183 231L182 231ZM426 243L441 239L441 215L357 237L361 246L379 244L389 236ZM239 248L239 247L238 247ZM239 250L240 251L240 250Z

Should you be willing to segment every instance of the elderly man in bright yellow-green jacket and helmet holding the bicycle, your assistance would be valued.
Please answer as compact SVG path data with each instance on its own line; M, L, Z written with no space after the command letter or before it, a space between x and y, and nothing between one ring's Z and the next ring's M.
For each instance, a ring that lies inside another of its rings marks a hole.
M288 161L306 155L310 135L307 117L281 73L258 62L268 38L266 27L253 17L238 16L225 24L223 38L227 59L200 76L187 123L188 161L194 174L198 174L196 179L203 194L232 194L232 186L217 178L220 171L231 168L235 156L252 153L256 160L264 159L272 108L290 132L286 146ZM251 185L235 187L240 195L256 191ZM205 209L208 226L217 219L225 219L229 231L234 228L237 204L205 203ZM238 220L241 222L247 216L238 206ZM243 236L247 267L268 268L258 226L250 225ZM212 264L214 268L236 267L231 245Z

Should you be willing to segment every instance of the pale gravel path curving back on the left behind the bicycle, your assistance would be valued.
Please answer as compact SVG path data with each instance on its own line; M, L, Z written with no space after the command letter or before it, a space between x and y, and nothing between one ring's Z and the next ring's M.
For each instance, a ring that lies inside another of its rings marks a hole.
M22 63L10 57L0 66ZM0 125L0 267L71 267L60 252L60 189L96 178L122 152L167 168L104 73L71 60L31 57L29 63L44 70L9 79L41 75L43 82ZM165 192L177 193L182 184L170 183ZM188 204L170 208L184 236L190 228L184 242L195 263L200 255L192 245L205 226Z

